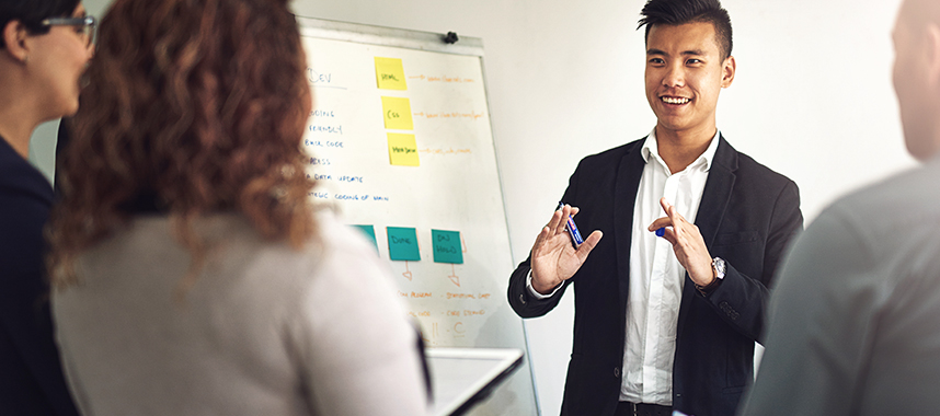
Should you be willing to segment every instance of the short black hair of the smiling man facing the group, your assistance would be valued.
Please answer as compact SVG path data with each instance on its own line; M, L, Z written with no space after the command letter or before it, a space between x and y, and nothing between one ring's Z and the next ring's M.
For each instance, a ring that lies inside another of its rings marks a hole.
M643 19L637 28L646 26L644 42L650 39L650 28L656 24L711 23L722 59L731 56L731 16L719 0L649 0L640 14Z

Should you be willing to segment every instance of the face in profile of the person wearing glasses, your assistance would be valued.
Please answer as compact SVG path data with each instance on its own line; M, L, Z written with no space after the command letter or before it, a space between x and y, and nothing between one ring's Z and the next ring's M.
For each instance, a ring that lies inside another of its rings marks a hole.
M79 3L72 18L84 16ZM83 26L54 25L49 33L34 37L35 51L30 56L33 77L44 85L43 103L48 118L70 116L79 106L79 79L94 50Z

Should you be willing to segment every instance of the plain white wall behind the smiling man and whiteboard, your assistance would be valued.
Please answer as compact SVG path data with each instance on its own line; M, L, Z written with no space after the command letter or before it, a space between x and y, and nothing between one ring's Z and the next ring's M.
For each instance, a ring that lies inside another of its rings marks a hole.
M738 71L722 93L719 128L738 150L800 185L807 223L839 195L913 165L891 86L890 31L899 2L724 1ZM85 1L99 15L107 3ZM577 161L638 139L655 123L643 93L643 33L634 31L643 3L294 4L305 16L483 38L509 238L521 261ZM566 298L549 315L526 322L543 415L557 415L561 404L572 338Z

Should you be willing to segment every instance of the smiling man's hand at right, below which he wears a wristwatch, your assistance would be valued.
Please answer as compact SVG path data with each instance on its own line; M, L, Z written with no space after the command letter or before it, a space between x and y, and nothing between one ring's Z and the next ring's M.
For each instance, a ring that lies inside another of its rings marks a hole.
M715 279L715 276L711 267L711 255L704 245L699 228L686 221L679 215L678 209L666 201L666 198L660 198L660 205L666 212L666 217L657 218L647 230L655 232L665 228L663 238L673 244L676 258L689 273L689 278L696 285L708 286Z

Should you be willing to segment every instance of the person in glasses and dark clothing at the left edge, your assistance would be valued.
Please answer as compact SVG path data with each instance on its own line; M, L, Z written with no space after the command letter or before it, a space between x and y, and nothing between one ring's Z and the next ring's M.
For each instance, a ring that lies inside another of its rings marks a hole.
M43 122L74 114L94 19L79 0L0 1L0 413L77 415L43 267L48 181L27 162Z

